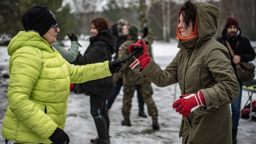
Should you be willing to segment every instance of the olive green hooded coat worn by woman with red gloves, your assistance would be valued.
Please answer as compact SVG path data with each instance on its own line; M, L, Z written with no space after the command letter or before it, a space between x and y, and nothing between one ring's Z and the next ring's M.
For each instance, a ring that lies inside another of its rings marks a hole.
M160 87L178 82L181 95L203 93L206 109L197 108L181 120L182 143L232 143L230 103L237 98L239 85L227 48L212 39L219 10L208 3L193 3L198 36L179 40L180 50L164 70L151 60L141 74Z

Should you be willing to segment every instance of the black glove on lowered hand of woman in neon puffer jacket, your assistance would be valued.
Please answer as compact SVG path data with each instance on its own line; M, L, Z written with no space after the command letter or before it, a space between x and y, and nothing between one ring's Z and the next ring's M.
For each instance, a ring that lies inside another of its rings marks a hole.
M62 144L62 143L69 143L69 137L66 132L61 130L59 127L53 132L51 137L49 138L54 144Z

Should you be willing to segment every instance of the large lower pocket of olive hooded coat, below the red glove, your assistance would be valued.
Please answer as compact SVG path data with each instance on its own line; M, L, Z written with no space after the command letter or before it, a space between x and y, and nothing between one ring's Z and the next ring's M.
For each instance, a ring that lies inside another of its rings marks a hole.
M196 109L189 143L218 143L219 109Z

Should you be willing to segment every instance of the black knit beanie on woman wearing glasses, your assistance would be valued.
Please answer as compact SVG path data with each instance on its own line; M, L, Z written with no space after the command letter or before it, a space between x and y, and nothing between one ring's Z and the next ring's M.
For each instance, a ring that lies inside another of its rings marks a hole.
M55 15L45 6L34 6L22 17L23 28L35 30L43 36L53 25L57 24Z

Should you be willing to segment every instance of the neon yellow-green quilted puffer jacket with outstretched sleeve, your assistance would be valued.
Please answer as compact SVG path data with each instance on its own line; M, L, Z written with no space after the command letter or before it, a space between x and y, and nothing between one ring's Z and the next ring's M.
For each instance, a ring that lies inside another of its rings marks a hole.
M108 61L71 66L58 51L33 31L20 31L7 47L9 105L2 135L18 143L52 143L57 126L65 127L71 83L110 76Z

